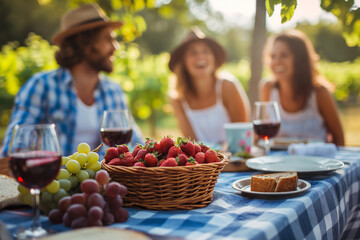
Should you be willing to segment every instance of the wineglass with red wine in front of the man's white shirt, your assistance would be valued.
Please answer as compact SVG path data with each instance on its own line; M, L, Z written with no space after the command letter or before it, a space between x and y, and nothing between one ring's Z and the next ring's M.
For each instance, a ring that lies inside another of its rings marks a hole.
M109 147L128 144L132 136L132 121L127 110L104 111L101 121L101 138Z

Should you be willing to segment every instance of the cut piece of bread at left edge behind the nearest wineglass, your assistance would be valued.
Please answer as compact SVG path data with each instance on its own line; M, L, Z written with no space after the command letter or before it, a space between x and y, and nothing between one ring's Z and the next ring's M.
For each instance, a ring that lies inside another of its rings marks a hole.
M15 179L0 174L0 209L21 204L18 185Z

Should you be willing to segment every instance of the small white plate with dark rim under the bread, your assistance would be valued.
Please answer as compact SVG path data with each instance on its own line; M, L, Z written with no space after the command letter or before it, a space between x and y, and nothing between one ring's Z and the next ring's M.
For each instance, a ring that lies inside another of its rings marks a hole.
M295 191L289 192L254 192L250 190L251 178L240 179L232 183L232 187L235 190L240 191L243 195L249 197L271 197L271 198L283 198L297 196L311 187L311 184L305 180L298 179L298 187Z

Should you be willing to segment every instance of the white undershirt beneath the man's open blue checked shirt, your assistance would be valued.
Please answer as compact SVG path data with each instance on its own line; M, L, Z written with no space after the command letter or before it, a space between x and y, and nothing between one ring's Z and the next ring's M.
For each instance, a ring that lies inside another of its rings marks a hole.
M86 142L91 149L100 143L100 125L96 104L85 105L79 98L76 100L76 128L73 143L73 151L77 152L77 146Z

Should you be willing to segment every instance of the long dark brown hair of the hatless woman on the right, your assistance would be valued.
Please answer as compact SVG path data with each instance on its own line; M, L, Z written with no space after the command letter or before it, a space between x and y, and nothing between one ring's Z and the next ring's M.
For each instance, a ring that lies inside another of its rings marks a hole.
M270 39L268 49L278 41L286 43L294 56L292 92L294 100L302 101L303 107L305 107L314 86L319 84L317 70L319 57L309 38L299 30L289 30L275 35ZM267 54L270 54L270 51Z

